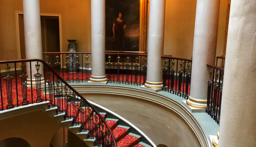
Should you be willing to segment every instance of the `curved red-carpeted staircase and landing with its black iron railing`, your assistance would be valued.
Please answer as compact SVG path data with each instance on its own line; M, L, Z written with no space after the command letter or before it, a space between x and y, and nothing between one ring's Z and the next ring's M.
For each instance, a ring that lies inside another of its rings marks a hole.
M30 76L32 77L32 61L37 62L35 64L37 73L34 74L35 83L31 82L29 85L24 63L30 63ZM38 73L40 68L38 62L44 66L44 75L47 73L43 84L40 81L42 75ZM135 134L134 128L128 127L129 125L124 122L120 123L120 120L109 112L98 112L44 61L25 59L0 61L0 63L7 64L5 68L7 76L1 76L0 72L0 109L2 111L49 101L48 109L45 112L77 135L88 146L150 147L140 141L144 137L138 135L139 133ZM9 75L10 65L8 63L15 64L15 75ZM22 74L16 73L16 63L21 63Z

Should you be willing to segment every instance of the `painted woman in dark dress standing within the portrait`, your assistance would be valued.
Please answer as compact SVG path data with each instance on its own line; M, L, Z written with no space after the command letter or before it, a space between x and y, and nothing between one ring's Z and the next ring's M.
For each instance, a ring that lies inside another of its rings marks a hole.
M126 28L126 23L122 20L122 13L119 12L118 18L113 21L113 38L116 39L115 47L116 51L125 51L124 47L124 29Z

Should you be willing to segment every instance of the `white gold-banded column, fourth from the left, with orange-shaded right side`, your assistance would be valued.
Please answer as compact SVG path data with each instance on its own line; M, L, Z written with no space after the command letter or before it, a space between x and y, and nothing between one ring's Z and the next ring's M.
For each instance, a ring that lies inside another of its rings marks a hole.
M215 64L218 20L219 0L197 0L191 89L186 102L191 107L206 108L209 78L206 64Z

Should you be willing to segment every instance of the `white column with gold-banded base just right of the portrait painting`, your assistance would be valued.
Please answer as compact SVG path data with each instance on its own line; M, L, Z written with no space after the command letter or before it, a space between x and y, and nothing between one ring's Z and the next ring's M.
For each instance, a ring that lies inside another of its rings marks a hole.
M150 0L148 41L147 41L147 81L141 88L161 91L163 41L165 35L165 0Z

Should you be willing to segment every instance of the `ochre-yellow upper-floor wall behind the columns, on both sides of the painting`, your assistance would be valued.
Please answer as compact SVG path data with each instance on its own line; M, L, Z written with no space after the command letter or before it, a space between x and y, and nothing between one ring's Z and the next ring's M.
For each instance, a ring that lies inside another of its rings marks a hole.
M1 0L0 60L18 59L15 10L22 11L22 0ZM226 0L220 0L216 56L223 53ZM79 52L91 51L90 0L40 0L40 11L61 13L62 47L67 51L67 39L77 39ZM191 58L195 27L196 0L166 0L164 54Z

